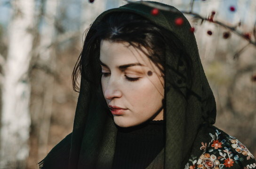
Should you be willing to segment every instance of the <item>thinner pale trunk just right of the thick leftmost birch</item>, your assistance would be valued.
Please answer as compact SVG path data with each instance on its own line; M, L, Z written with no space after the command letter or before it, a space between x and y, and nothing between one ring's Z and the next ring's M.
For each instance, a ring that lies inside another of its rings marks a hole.
M40 57L39 64L48 65L48 67L54 71L56 59L54 53L54 46L52 46L53 40L56 38L55 32L55 18L58 7L58 0L47 0L45 2L45 14L43 16L43 24L41 28L40 36ZM47 36L45 36L47 35ZM51 47L48 47L51 46ZM42 97L42 109L39 111L40 123L39 127L39 150L38 158L44 158L48 153L48 135L50 129L50 120L52 115L52 101L54 92L54 77L52 75L44 74L40 77L43 81L43 97Z

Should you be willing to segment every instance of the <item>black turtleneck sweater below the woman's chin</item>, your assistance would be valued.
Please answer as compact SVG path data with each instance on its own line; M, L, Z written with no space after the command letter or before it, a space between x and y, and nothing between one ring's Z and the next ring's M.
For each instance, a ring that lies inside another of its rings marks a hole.
M118 127L112 169L145 169L164 147L165 120Z

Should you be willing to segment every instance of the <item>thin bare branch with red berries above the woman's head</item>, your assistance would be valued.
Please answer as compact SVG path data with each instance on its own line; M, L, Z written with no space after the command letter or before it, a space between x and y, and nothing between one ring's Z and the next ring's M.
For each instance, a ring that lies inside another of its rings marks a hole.
M128 3L135 3L135 1L133 0L125 0L127 1ZM152 4L152 3L149 3L149 2L146 2L146 1L139 1L137 3L141 3L141 4L144 4L148 7L152 7L152 8L158 8L160 10L165 10L165 11L169 11L169 12L173 12L173 13L177 13L176 10L174 10L173 8L170 8L170 7L166 7L166 6L161 6L161 5L158 5L158 4ZM193 6L193 0L192 0L192 3L191 3L191 8ZM232 26L228 26L227 24L224 24L222 22L219 22L219 21L213 21L212 19L210 18L206 18L206 17L203 17L197 13L194 13L191 11L181 11L183 14L187 14L187 15L193 15L195 18L199 18L203 21L208 21L208 22L211 22L211 23L215 23L215 24L218 24L226 29L229 29L230 31L234 32L235 34L237 34L238 36L240 36L241 38L244 38L246 39L250 44L256 46L256 42L255 41L252 41L250 38L248 38L245 33L243 32L240 32L238 30L236 30L236 27L232 27Z

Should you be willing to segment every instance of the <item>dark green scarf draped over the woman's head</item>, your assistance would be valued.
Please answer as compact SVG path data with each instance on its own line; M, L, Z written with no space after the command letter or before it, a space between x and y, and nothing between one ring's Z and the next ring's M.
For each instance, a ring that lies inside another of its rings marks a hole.
M216 103L205 76L191 25L176 8L158 2L147 1L168 7L170 11L159 10L152 15L152 7L139 1L120 8L113 8L99 15L88 31L85 45L95 30L92 28L104 20L108 14L129 12L143 16L152 23L171 31L184 46L184 54L192 61L191 74L187 74L184 57L171 52L166 44L165 55L165 148L152 162L152 169L184 169L191 154L200 156L201 140L208 142L208 128L215 123ZM182 18L181 26L175 24ZM99 46L94 46L99 49ZM98 53L87 54L95 58ZM45 169L111 169L115 152L117 128L109 110L102 101L101 88L96 87L90 78L90 65L84 58L73 131L64 138L48 156L41 161ZM94 60L93 60L94 61ZM96 60L95 60L96 64ZM189 81L189 76L192 79ZM174 87L175 86L175 87ZM207 134L206 134L207 133ZM198 147L199 146L199 147ZM154 163L154 164L153 164ZM148 167L150 168L150 166Z

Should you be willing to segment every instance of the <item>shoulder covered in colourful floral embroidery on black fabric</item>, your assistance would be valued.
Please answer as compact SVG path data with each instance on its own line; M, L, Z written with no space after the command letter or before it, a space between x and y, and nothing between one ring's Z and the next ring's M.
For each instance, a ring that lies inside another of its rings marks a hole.
M254 156L238 139L220 131L209 132L211 141L201 142L200 157L192 157L187 169L256 169Z

